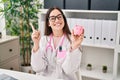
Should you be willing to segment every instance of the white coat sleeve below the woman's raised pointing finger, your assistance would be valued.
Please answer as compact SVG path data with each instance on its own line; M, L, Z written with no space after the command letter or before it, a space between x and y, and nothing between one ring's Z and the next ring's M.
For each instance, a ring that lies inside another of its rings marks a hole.
M45 42L45 38L41 39L40 47L39 47L38 51L35 53L32 51L32 55L31 55L31 67L36 73L40 73L41 71L44 71L47 66L47 61L45 61L43 59L45 57L44 56L45 44L43 44L42 41Z

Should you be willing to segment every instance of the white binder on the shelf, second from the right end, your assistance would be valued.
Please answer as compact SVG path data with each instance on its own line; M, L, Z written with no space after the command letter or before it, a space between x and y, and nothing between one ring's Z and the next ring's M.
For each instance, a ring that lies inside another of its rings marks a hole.
M102 21L102 45L108 45L108 36L109 36L109 20Z

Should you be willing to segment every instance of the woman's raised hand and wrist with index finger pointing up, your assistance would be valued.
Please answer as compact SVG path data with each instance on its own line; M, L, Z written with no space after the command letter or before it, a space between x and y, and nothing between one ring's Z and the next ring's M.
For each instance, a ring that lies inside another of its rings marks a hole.
M31 35L31 38L33 40L34 46L33 46L33 51L37 51L39 48L39 41L40 41L40 31L36 30L32 24L30 24L33 30L33 33Z

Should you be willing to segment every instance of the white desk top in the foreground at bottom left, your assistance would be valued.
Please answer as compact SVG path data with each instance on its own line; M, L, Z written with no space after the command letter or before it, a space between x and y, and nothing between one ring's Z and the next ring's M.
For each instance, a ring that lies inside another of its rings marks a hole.
M0 74L7 74L18 80L62 80L62 79L47 78L41 75L29 74L29 73L6 70L6 69L0 69Z

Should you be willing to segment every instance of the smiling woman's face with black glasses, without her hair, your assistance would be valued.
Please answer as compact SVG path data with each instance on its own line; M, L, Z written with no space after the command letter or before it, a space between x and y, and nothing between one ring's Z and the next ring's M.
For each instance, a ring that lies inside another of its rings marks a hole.
M54 31L63 31L65 25L63 15L57 9L54 9L49 15L49 26Z

